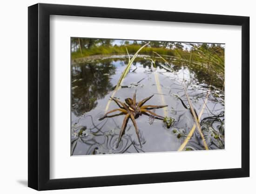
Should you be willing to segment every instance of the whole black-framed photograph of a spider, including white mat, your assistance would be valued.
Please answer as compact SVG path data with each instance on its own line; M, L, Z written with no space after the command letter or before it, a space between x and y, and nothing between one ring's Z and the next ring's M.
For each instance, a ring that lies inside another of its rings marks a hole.
M249 17L28 7L28 187L249 176Z

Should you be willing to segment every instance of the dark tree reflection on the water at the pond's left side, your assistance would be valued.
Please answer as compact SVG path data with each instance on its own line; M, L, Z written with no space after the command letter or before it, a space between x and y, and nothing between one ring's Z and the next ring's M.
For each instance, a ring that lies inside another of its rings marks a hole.
M72 112L81 115L97 106L112 89L109 76L115 74L111 60L90 61L72 66Z

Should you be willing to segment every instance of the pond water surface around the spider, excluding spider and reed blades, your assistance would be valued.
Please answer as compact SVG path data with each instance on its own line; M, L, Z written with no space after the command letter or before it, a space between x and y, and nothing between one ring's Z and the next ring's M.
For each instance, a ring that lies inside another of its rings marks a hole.
M155 64L148 58L155 60ZM166 59L170 61L173 72L163 68L166 64L160 58L139 55L115 93L122 102L128 97L133 98L135 91L137 101L154 94L145 105L168 105L152 112L172 117L175 121L169 128L154 116L142 114L136 119L142 146L132 120L128 120L116 147L125 115L99 120L105 114L110 96L128 64L128 57L101 56L72 64L71 155L177 151L195 123L189 109L182 105L183 101L189 107L183 85L196 113L203 109L200 125L209 149L224 148L223 75L217 75L204 65ZM203 106L205 101L206 106ZM108 111L115 108L118 106L111 100ZM196 129L183 150L204 149L202 137Z

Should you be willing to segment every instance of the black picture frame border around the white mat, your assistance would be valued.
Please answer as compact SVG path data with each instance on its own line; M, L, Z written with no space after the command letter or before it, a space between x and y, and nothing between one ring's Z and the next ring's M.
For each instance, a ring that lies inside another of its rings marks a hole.
M53 179L50 175L50 15L242 26L242 167ZM52 190L249 176L249 17L36 4L28 7L28 187Z

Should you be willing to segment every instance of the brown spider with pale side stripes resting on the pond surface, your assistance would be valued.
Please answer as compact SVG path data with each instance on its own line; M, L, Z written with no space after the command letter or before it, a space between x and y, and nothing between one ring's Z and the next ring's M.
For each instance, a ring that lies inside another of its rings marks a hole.
M147 102L153 96L154 96L154 94L149 96L148 98L145 98L145 99L141 100L138 103L136 102L136 91L135 91L135 93L133 95L133 99L131 99L131 98L126 98L125 99L126 103L123 103L123 102L121 102L120 100L118 100L116 98L110 97L112 100L115 101L115 103L120 108L116 108L114 110L109 111L108 113L104 114L100 118L100 120L103 120L104 118L111 118L111 117L115 117L115 116L119 116L119 115L125 114L125 117L124 117L124 120L123 120L123 124L122 124L122 127L121 127L121 131L120 131L120 134L119 134L119 139L118 139L118 142L116 144L116 147L118 147L118 145L119 145L119 142L121 140L121 136L122 136L122 134L123 134L123 132L124 132L124 130L126 128L126 125L127 125L127 122L129 120L129 118L131 118L131 120L133 122L133 125L135 127L135 131L136 131L136 134L137 134L137 137L138 137L140 145L141 145L141 140L140 140L140 137L139 137L139 131L138 131L138 127L137 127L137 124L135 122L135 119L137 119L139 116L141 116L141 114L145 114L147 116L153 116L154 115L154 117L156 119L160 119L160 120L164 119L164 117L162 117L160 115L157 115L157 114L155 114L154 112L152 112L150 110L151 109L155 109L155 108L167 107L168 105L164 105L164 106L145 105L145 106L143 106L143 104L145 104L145 102ZM113 113L115 111L120 111L121 113L108 116L109 113Z

